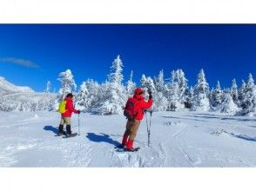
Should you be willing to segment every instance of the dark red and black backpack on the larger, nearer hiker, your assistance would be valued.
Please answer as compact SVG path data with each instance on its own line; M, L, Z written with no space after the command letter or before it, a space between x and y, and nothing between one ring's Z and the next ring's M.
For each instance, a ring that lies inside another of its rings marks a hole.
M133 120L135 116L138 114L138 100L130 97L126 104L125 104L125 110L124 115L128 120Z

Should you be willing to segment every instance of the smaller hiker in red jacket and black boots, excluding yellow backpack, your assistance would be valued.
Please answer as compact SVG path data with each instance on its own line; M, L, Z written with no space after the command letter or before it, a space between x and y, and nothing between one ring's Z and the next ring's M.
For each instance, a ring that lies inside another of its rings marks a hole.
M61 120L58 126L58 134L64 135L64 124L66 124L66 136L71 136L71 115L74 112L75 114L80 114L80 111L74 109L73 106L73 95L70 93L66 95L64 101L66 101L66 111L61 114Z

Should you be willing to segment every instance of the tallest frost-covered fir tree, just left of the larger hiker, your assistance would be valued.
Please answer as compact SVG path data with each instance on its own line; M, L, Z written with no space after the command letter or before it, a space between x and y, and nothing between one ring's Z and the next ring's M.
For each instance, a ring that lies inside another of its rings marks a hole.
M122 74L123 63L118 56L111 66L111 74L108 76L108 82L104 84L104 95L99 101L97 111L102 115L121 114L125 106L126 95L122 84L124 76Z

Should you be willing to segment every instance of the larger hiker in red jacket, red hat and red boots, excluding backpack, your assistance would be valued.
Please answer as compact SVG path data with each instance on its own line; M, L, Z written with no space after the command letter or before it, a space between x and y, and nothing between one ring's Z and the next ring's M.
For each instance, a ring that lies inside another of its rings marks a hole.
M125 134L123 135L122 146L126 147L126 149L133 151L133 142L137 135L138 127L140 121L144 117L144 110L152 107L152 92L149 92L149 100L145 102L145 98L143 96L143 89L135 89L133 98L137 100L136 103L136 111L137 114L134 116L134 119L127 120Z

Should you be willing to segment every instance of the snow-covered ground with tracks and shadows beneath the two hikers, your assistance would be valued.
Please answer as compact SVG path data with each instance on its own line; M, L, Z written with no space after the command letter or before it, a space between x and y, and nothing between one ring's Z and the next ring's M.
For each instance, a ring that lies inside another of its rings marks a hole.
M155 112L136 153L115 146L123 115L80 115L81 135L57 137L57 112L0 112L0 167L256 167L256 118L211 112ZM77 132L77 115L72 131ZM148 115L149 119L149 115Z

